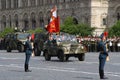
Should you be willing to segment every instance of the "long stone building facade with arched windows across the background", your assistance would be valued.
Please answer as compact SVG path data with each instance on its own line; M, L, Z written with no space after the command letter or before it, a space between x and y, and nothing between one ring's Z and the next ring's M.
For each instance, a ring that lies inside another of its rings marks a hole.
M5 27L35 29L50 20L57 5L60 23L68 16L96 27L100 34L120 19L120 0L0 0L0 31Z

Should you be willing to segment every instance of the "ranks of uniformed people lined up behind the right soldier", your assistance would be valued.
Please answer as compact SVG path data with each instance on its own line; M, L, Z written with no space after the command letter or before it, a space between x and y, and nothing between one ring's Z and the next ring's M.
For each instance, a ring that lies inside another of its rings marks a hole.
M98 52L99 37L77 37L78 42L86 46L88 52ZM107 38L110 52L120 52L120 37Z

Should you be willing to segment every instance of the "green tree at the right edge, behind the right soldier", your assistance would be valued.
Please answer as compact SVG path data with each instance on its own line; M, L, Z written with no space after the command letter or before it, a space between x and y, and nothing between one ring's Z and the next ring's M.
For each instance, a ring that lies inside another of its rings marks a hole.
M120 36L120 21L109 29L109 37Z

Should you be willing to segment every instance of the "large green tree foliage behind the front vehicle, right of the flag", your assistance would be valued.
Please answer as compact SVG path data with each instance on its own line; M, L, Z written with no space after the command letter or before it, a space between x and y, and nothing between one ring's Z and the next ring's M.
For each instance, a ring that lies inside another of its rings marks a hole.
M67 17L61 25L61 31L74 35L88 36L92 35L95 28L91 28L89 25L84 23L75 24L72 17Z

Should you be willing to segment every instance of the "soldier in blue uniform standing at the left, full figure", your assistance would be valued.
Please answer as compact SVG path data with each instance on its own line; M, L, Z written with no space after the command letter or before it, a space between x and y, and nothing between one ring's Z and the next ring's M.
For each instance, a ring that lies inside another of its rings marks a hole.
M29 60L30 60L30 57L31 57L31 54L32 54L32 45L31 45L31 36L28 35L27 37L27 41L25 43L25 46L26 46L26 51L25 51L25 65L24 65L24 68L25 68L25 72L31 72L31 70L29 70Z

